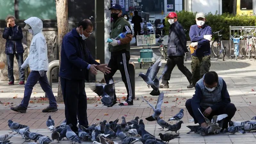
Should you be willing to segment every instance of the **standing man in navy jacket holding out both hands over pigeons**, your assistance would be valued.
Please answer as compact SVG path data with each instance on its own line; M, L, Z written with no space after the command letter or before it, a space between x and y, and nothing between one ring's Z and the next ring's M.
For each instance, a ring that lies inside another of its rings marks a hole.
M88 19L80 21L77 28L68 32L62 40L60 62L60 84L65 103L65 116L67 124L72 124L71 129L78 131L79 124L88 127L87 98L84 81L88 81L88 72L97 75L97 70L108 74L108 64L100 64L92 58L85 39L92 34L92 22Z

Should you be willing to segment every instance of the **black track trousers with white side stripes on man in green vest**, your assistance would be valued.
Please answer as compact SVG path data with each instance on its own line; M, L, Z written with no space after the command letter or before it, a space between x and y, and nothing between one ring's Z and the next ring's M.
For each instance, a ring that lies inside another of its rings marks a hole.
M113 79L117 69L120 70L122 80L125 84L127 91L127 102L133 103L132 100L132 84L129 73L129 60L130 60L130 52L128 51L120 51L120 52L111 52L111 58L108 62L108 68L111 68L110 73L105 75L105 81L108 84L110 79ZM116 94L114 99L116 100Z

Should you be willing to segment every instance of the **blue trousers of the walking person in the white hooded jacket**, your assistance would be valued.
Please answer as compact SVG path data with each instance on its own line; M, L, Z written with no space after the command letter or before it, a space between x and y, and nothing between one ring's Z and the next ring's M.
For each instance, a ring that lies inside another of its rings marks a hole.
M48 95L50 106L53 108L57 108L56 99L52 93L52 88L48 83L48 79L46 76L46 71L44 71L45 75L43 77L40 76L38 71L31 71L27 83L25 84L25 91L24 91L24 98L21 101L20 106L24 108L28 108L29 99L33 90L33 87L39 81L39 84L41 85L41 88L44 92Z

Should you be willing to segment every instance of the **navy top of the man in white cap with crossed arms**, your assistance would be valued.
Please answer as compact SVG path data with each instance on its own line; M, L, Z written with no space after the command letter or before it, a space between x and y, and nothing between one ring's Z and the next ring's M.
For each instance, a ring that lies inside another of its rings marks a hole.
M199 28L197 25L192 25L189 30L191 42L198 42L197 50L192 53L195 57L203 57L211 54L210 41L204 39L204 35L212 35L212 28L204 25Z

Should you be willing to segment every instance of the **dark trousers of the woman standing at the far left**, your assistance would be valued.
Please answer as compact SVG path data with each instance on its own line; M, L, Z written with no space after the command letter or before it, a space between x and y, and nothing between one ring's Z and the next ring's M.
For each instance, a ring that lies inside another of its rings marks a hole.
M25 72L22 72L20 70L21 65L23 64L23 53L8 53L6 54L7 58L7 64L8 64L8 78L9 82L14 82L14 76L13 76L13 62L14 62L14 56L16 57L19 65L19 72L20 72L20 81L25 81Z

